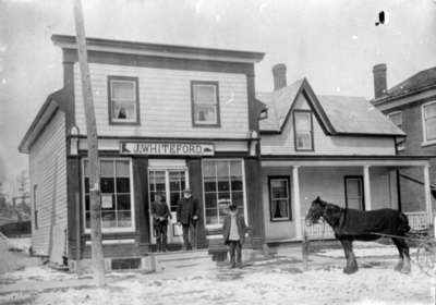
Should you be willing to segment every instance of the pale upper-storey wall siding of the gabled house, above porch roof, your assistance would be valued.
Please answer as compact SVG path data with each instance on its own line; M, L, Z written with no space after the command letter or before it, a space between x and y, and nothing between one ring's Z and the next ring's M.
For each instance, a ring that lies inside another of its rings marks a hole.
M295 109L310 109L301 96ZM295 151L293 115L289 115L281 134L263 134L261 149L263 155L395 155L391 137L374 136L328 136L313 115L314 151ZM364 131L362 131L364 132Z

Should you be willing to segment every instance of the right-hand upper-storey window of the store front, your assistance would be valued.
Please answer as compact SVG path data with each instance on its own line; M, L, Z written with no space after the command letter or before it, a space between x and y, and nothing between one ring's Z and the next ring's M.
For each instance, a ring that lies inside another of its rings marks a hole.
M194 126L219 126L218 82L191 82L192 123Z

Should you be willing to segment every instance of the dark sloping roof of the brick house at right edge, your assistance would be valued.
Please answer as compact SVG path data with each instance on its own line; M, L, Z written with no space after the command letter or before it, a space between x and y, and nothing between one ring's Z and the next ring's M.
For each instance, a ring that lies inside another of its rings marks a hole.
M384 102L403 95L419 93L429 87L436 87L436 66L417 72L405 81L388 89L383 96L374 99L373 102Z

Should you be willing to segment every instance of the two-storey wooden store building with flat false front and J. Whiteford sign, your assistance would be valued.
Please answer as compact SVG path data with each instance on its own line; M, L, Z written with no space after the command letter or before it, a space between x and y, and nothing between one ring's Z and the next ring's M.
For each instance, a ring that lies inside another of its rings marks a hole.
M75 37L52 36L64 87L51 94L24 136L33 197L33 251L61 261L87 258L89 183L85 111ZM87 39L100 155L106 257L142 257L155 243L150 202L173 213L185 187L201 203L199 246L231 199L263 243L254 63L264 53Z

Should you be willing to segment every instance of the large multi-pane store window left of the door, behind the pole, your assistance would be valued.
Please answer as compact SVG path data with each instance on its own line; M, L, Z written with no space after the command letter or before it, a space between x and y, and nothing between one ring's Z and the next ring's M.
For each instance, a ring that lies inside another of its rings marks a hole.
M130 162L129 159L100 159L101 228L104 230L134 228ZM85 229L90 229L88 160L84 160L83 164Z

